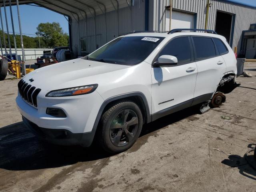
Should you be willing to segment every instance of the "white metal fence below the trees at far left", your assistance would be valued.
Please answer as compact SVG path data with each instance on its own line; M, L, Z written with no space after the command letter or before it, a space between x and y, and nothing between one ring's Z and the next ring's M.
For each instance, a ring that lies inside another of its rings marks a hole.
M25 59L35 60L36 58L40 58L43 55L44 51L51 51L52 49L24 49ZM3 50L4 51L4 50ZM9 49L7 49L9 53ZM12 49L12 54L15 54L15 49ZM22 49L17 49L18 60L22 60Z

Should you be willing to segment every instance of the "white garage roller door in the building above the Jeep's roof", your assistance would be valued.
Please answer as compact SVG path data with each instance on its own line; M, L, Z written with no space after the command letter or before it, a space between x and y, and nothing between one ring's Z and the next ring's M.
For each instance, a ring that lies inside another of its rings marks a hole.
M170 10L166 10L166 31L169 30ZM194 28L194 14L172 11L171 30L176 28Z

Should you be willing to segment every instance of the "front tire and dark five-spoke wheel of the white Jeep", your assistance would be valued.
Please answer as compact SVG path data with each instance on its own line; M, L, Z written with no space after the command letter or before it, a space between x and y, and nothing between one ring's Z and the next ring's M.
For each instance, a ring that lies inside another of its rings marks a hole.
M116 102L101 117L98 127L100 146L112 154L128 150L140 136L142 124L142 112L137 104Z

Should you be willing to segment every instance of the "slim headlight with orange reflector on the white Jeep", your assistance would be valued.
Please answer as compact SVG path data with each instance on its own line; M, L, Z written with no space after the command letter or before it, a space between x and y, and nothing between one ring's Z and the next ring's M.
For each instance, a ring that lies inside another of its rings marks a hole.
M59 89L59 90L48 92L48 94L46 94L46 97L66 97L66 96L74 96L74 95L83 95L83 94L94 92L94 90L96 90L97 87L98 87L98 84L93 84L93 85L85 85L80 87Z

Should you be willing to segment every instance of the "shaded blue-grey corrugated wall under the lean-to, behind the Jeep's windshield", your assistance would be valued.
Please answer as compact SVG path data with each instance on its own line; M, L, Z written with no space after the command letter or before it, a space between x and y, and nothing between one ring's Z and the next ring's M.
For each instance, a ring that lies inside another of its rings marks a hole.
M133 30L145 29L144 0L135 0L134 6L131 6L131 9L128 6L124 7L124 5L122 7L118 10L107 12L106 17L105 14L96 15L96 22L94 17L89 17L89 15L89 18L87 18L87 30L86 22L83 18L80 18L79 24L77 18L72 18L72 34L70 35L75 56L81 55L80 38L87 38L87 50L90 53L96 50L96 46L100 47L122 34Z

